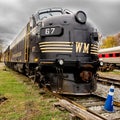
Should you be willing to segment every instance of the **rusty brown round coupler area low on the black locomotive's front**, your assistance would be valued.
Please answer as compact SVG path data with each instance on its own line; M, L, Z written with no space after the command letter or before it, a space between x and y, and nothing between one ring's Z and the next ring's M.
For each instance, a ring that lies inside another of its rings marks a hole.
M80 77L83 81L88 82L92 78L92 72L90 71L82 71L80 73Z

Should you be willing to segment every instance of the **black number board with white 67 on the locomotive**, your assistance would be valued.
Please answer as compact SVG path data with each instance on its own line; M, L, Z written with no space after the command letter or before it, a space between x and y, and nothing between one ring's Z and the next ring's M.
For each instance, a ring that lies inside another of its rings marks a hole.
M63 33L63 28L60 26L55 26L55 27L45 27L41 28L40 30L40 35L42 37L46 36L60 36Z

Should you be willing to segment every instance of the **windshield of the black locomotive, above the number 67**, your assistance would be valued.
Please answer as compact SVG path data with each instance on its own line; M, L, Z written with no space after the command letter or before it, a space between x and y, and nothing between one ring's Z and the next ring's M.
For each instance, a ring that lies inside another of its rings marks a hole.
M43 20L45 18L49 18L52 16L59 16L62 15L63 13L61 11L50 11L50 12L43 12L39 14L39 19Z

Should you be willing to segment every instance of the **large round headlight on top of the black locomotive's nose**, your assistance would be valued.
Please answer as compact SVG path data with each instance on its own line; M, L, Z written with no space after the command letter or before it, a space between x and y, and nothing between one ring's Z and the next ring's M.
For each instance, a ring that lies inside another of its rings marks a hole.
M77 22L81 23L81 24L85 24L86 20L87 20L87 16L83 11L78 11L75 14L75 19Z

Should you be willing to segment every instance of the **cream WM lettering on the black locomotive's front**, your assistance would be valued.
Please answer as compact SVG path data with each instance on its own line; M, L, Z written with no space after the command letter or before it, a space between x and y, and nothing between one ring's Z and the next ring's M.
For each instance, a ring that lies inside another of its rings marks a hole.
M83 42L76 42L76 53L89 53L90 44Z

